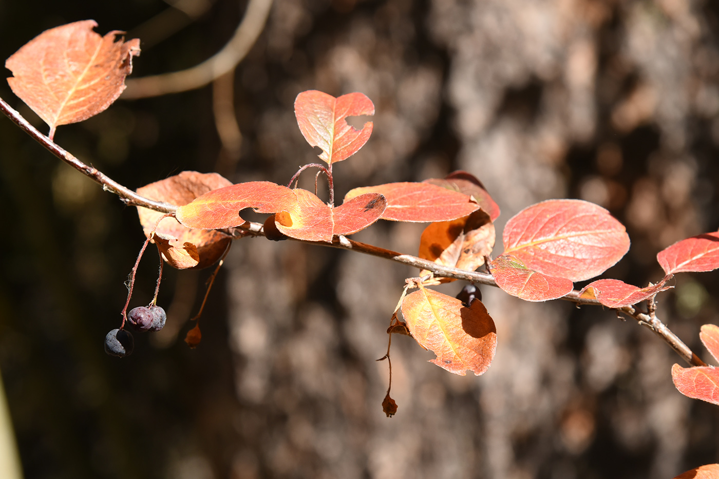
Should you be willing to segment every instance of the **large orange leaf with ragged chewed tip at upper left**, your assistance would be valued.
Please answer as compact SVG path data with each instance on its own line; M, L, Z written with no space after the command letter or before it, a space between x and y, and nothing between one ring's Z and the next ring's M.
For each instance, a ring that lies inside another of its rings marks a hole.
M94 20L42 32L5 62L13 93L50 126L81 122L104 111L124 91L139 55L139 39L124 42L113 30L101 37Z

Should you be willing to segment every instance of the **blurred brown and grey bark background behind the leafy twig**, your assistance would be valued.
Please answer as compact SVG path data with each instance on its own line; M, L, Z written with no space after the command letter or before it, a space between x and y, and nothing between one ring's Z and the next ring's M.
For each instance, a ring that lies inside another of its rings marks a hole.
M244 10L175 6L0 0L0 58L93 18L141 37L133 76L178 70L219 50ZM605 277L644 286L661 277L656 252L719 227L717 32L708 0L276 0L234 76L241 142L219 140L211 87L120 100L55 140L131 188L181 170L286 183L314 159L297 93L362 91L375 132L336 165L337 196L461 168L502 208L499 236L536 201L594 201L633 242ZM32 117L6 84L0 95ZM27 478L672 478L719 459L719 409L674 389L679 357L649 330L492 288L490 370L451 375L395 338L387 419L375 359L416 272L293 242L235 242L197 350L181 339L209 272L170 271L168 327L107 357L144 239L134 209L2 119L0 201L0 369ZM422 229L383 223L357 239L414 254ZM142 264L135 306L156 262ZM680 275L660 300L701 355L718 288L716 273Z

